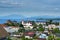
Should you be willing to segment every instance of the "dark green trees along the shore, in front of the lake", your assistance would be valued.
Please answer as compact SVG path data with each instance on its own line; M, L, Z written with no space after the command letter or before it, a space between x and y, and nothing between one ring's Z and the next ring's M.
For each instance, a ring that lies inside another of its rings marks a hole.
M31 22L33 25L37 25L36 24L36 21L24 21L24 22ZM55 25L59 25L59 22L53 22L53 20L48 20L45 22L46 25L49 25L49 24L55 24ZM22 26L22 21L21 22L17 22L17 21L11 21L11 20L7 20L6 23L4 23L5 25L7 26Z

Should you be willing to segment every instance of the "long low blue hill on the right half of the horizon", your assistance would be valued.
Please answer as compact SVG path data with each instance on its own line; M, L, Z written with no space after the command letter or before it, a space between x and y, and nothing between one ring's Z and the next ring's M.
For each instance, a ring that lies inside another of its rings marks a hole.
M48 16L48 15L44 15L44 16L29 17L28 19L32 19L32 20L60 19L60 16Z

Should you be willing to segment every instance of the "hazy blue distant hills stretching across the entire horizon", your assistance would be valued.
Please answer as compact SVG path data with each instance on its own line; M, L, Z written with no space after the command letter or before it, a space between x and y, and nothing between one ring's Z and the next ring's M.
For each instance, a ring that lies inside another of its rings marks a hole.
M43 15L43 16L25 17L23 15L13 14L13 15L0 17L0 19L40 20L40 19L60 19L60 16Z

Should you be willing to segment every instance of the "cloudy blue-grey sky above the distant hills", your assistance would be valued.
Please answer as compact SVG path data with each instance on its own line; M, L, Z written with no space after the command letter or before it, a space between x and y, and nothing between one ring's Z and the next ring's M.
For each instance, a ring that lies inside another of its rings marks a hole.
M60 0L0 0L0 16L59 16Z

